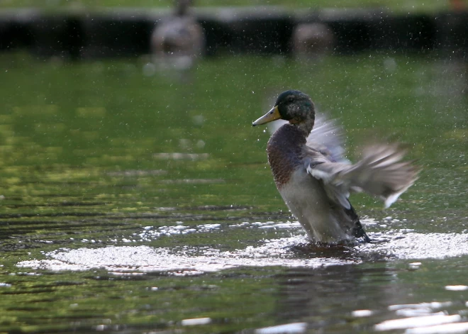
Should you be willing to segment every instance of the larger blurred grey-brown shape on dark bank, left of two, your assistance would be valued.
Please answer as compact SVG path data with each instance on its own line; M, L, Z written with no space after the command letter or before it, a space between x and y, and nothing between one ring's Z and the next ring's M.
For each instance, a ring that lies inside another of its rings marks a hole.
M163 67L190 68L203 55L203 29L189 14L192 0L175 0L174 14L162 19L151 35L154 61Z

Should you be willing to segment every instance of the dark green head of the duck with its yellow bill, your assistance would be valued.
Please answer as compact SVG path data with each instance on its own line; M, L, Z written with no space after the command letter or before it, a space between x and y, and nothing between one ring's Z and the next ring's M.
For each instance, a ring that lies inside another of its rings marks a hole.
M310 127L312 130L315 116L316 112L311 98L302 91L289 90L279 94L274 107L253 122L252 126L260 126L281 118L291 124Z

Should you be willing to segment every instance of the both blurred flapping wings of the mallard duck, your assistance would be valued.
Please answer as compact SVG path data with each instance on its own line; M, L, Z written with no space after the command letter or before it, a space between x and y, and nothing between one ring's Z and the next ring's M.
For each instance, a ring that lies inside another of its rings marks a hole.
M287 121L269 123L274 133ZM311 176L321 179L328 197L350 209L351 191L379 197L388 208L418 179L418 167L401 161L405 155L398 145L372 145L365 147L362 160L352 165L343 155L343 134L335 120L317 116L315 126L307 138L306 169Z

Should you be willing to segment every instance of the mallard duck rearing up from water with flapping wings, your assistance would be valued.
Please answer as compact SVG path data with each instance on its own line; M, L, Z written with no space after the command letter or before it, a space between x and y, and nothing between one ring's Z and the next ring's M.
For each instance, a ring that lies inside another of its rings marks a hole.
M279 94L273 108L252 123L283 120L269 138L267 156L274 183L289 211L312 243L370 243L350 193L376 196L391 206L418 178L419 169L398 144L364 147L355 164L342 157L339 129L318 123L310 96L298 90ZM317 118L318 121L322 121ZM323 122L323 121L322 121Z

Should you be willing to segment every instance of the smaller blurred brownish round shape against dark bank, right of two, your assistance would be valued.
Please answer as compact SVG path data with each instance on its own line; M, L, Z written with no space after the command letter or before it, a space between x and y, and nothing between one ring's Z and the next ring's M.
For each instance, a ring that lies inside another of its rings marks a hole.
M294 28L292 50L294 56L319 57L333 51L335 35L324 23L301 23Z

